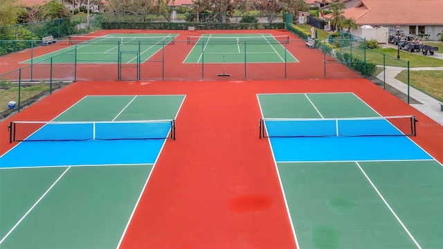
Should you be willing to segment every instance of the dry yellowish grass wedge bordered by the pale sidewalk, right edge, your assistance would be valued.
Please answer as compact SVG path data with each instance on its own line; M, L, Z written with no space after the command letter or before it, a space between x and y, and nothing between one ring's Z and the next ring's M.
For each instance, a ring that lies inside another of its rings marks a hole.
M443 102L443 71L410 71L410 85ZM397 80L407 84L408 72L401 71Z

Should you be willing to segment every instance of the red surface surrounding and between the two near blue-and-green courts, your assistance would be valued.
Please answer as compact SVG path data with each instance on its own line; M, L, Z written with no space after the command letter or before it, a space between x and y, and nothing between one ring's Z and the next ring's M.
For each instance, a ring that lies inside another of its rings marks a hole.
M85 95L186 95L120 248L296 248L257 93L352 92L381 116L417 116L411 139L443 162L443 127L364 79L75 82L10 120L52 120ZM91 107L93 108L93 107Z

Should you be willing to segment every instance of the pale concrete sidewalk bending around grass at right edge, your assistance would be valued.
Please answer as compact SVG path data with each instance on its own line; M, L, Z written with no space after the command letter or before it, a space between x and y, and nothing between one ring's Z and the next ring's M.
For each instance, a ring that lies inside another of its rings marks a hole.
M443 54L435 53L434 55L437 55L436 57L439 57L439 59L443 59ZM406 70L406 68L403 67L396 67L396 66L386 66L386 69L384 73L384 79L386 84L389 84L390 86L394 87L395 89L398 89L402 93L408 94L408 85L404 84L403 82L395 79L395 76L397 76L401 71ZM443 67L422 67L422 68L410 68L410 71L430 71L430 70L442 70ZM379 75L377 75L377 78L379 80L383 81L383 72L381 72ZM442 89L443 91L443 89ZM435 122L443 126L443 111L441 111L441 102L438 100L435 100L435 98L432 98L431 96L427 95L426 93L423 93L422 91L419 91L412 86L409 88L409 95L411 98L414 98L415 100L421 102L422 104L410 104L412 107L417 109L418 111L421 111L429 118L432 118Z

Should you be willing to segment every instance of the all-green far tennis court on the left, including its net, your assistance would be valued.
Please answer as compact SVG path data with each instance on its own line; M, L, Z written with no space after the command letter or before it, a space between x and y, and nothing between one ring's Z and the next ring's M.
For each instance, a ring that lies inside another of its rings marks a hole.
M164 46L174 44L177 34L111 34L78 36L53 46L66 46L33 58L33 63L143 63ZM52 59L51 59L52 57ZM30 59L23 63L31 63Z

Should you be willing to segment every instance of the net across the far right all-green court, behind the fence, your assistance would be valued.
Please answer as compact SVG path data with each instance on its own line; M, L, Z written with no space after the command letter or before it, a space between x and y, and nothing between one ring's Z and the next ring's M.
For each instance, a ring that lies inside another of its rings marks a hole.
M188 44L289 44L289 35L253 36L253 37L201 37L188 36Z

